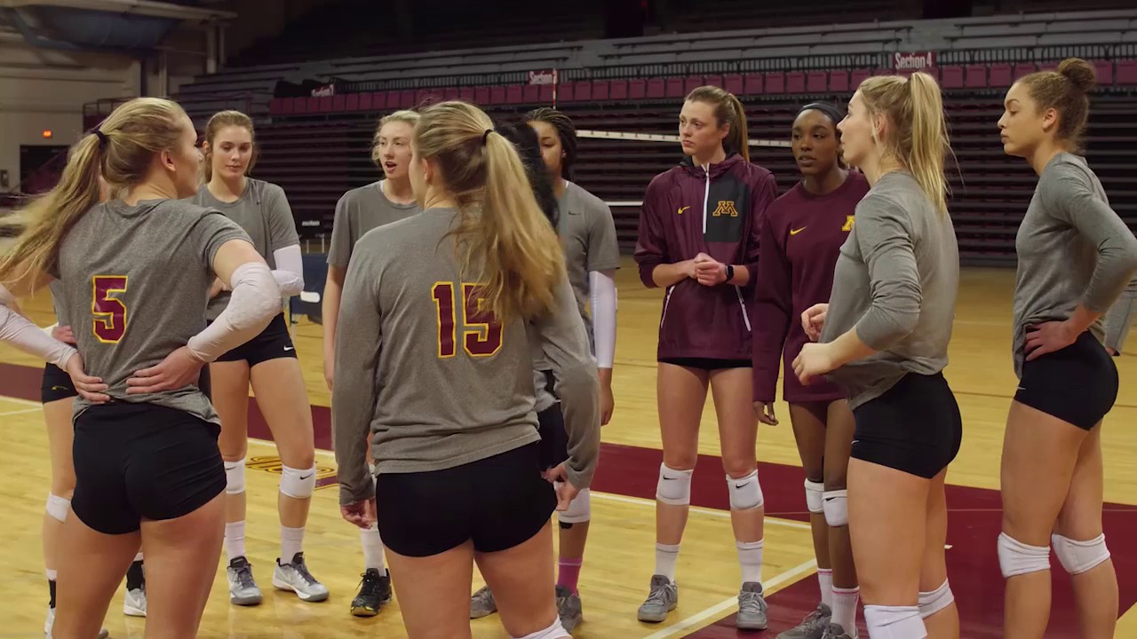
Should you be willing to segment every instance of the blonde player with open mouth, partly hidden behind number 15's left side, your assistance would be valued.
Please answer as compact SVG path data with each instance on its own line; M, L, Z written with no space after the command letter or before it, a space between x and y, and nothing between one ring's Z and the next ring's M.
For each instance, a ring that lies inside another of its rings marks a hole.
M333 388L335 372L335 327L340 317L343 277L356 242L367 231L398 222L421 209L410 190L410 138L418 114L395 111L383 116L371 141L371 161L383 169L383 180L351 189L335 202L332 246L327 251L327 279L324 282L322 321L324 326L324 381ZM355 616L375 616L391 600L391 575L383 558L383 539L372 525L359 531L364 571L359 591L351 600Z

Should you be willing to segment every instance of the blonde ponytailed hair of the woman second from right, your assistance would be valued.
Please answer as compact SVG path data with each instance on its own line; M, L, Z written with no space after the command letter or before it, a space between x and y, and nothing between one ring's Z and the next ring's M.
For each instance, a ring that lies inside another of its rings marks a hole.
M948 185L944 163L952 147L939 84L927 73L916 72L907 78L870 77L861 83L858 91L870 119L880 114L890 125L887 139L878 140L883 144L883 157L912 173L936 210L946 214Z

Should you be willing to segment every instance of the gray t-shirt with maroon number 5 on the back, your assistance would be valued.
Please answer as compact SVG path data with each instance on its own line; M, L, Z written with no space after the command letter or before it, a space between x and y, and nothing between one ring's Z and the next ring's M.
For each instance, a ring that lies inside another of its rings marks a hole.
M185 410L219 424L196 384L126 395L126 380L161 363L206 326L214 256L249 235L221 211L185 200L96 205L64 238L52 276L63 284L86 372L102 377L117 401ZM75 415L90 405L75 400Z

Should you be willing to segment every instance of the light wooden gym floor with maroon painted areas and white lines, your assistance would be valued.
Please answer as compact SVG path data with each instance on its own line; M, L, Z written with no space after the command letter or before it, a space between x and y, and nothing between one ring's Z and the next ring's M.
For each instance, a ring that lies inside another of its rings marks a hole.
M965 269L952 341L947 377L964 421L963 447L948 474L951 509L948 574L960 604L963 637L1001 634L1003 580L995 539L999 530L998 463L1006 410L1015 387L1009 345L1013 271ZM578 638L749 637L732 628L739 572L730 531L727 491L717 459L714 412L703 416L702 457L692 481L692 512L680 555L679 608L659 625L640 624L636 608L647 595L654 563L652 498L661 460L655 407L655 346L659 290L639 283L625 258L620 271L620 316L614 388L616 412L605 426L603 459L594 484L594 523L580 590L584 624ZM47 293L23 301L40 324L53 322ZM274 592L273 561L279 553L276 486L279 459L271 434L250 406L248 474L248 549L258 583L265 589L259 607L239 608L227 601L223 562L202 621L200 637L254 639L337 639L405 637L398 600L374 619L349 615L363 556L358 534L337 507L335 464L331 453L329 392L321 374L321 327L300 318L296 345L316 424L319 486L314 497L305 550L313 573L327 584L331 598L304 604L293 595ZM1121 622L1117 637L1137 637L1137 343L1115 362L1121 393L1106 421L1105 530L1121 580ZM39 637L48 603L40 545L40 525L50 468L47 437L39 408L41 365L0 346L0 424L6 446L0 465L9 481L0 487L8 520L0 554L0 637ZM782 424L763 426L758 437L760 475L766 496L767 526L763 581L770 595L770 629L774 637L813 608L818 598L815 563L802 489L804 475L794 446L785 404L777 408ZM1057 563L1054 563L1057 566ZM1054 572L1054 611L1047 637L1076 637L1069 579ZM481 584L476 582L472 588ZM863 622L862 622L863 624ZM122 592L106 621L116 638L141 638L144 620L122 614ZM479 639L505 638L496 616L473 622ZM866 636L862 630L862 636Z

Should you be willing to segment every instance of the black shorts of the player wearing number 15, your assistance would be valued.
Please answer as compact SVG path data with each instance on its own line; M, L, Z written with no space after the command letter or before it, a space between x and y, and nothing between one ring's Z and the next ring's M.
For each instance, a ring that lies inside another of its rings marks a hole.
M479 553L528 541L557 506L538 448L533 442L442 471L380 473L375 505L383 543L399 555L429 557L466 541Z

